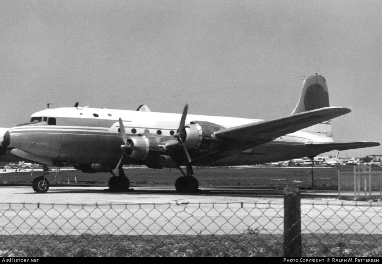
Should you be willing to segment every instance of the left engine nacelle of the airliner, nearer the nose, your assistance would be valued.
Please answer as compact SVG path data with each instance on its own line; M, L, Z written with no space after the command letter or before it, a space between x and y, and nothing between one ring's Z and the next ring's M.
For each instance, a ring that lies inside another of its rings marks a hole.
M130 157L130 159L146 160L150 149L158 147L158 141L155 138L143 135L139 137L127 138L126 145L131 146L131 148L127 147L126 149L126 154Z

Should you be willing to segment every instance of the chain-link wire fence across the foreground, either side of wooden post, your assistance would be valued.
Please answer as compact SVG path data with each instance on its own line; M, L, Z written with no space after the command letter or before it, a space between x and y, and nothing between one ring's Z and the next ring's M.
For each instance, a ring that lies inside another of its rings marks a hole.
M380 204L301 204L303 256L381 256ZM0 256L283 256L282 202L0 204Z

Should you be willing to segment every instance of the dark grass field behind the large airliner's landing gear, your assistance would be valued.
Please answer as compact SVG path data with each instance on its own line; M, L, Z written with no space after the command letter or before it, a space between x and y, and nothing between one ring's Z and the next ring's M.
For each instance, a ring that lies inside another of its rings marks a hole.
M316 188L338 188L338 171L349 172L349 182L352 183L353 166L314 167ZM373 172L382 172L382 167L372 167ZM174 186L176 178L181 176L177 169L149 169L146 167L131 167L125 169L126 176L134 186ZM31 185L34 178L42 172L11 172L0 173L2 184ZM219 186L286 186L292 180L310 181L310 167L199 167L194 168L195 177L202 187ZM51 171L48 180L54 184L86 184L107 186L110 173L87 174L78 170ZM308 187L311 183L308 183Z

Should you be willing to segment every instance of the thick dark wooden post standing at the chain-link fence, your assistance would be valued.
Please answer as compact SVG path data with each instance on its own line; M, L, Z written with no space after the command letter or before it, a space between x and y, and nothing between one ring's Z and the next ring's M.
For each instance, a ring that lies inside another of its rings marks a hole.
M300 189L287 186L284 189L284 256L301 257L301 208Z

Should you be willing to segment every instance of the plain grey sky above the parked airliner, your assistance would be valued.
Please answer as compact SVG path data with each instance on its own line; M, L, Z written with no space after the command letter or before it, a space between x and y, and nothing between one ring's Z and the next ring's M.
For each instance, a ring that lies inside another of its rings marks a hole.
M378 141L382 2L2 0L0 126L80 106L272 119L327 79L336 141ZM55 105L53 105L55 104ZM382 155L382 147L340 156Z

